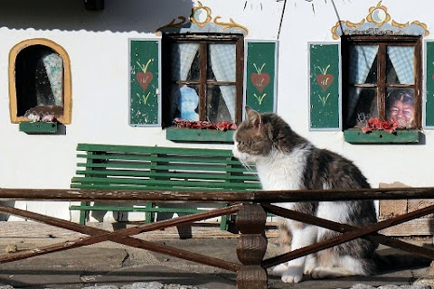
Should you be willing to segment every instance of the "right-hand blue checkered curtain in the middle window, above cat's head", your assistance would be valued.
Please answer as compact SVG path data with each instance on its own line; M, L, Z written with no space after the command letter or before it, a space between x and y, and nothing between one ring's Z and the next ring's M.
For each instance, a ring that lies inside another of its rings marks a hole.
M217 81L235 81L235 44L210 44L211 67ZM235 121L235 86L222 85L219 87L222 98L231 115L231 122Z

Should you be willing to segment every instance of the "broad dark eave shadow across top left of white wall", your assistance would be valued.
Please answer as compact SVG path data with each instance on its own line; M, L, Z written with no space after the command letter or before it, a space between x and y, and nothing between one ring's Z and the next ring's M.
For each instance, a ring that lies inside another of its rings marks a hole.
M9 29L155 33L178 16L192 13L192 0L105 0L87 11L83 0L0 1L0 27ZM25 8L24 8L25 7Z

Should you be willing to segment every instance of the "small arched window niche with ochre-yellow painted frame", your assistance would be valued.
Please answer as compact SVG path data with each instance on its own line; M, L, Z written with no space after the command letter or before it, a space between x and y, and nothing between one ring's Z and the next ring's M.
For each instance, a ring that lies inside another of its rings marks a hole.
M42 38L14 45L9 53L9 98L14 124L41 120L70 125L68 53L59 44Z

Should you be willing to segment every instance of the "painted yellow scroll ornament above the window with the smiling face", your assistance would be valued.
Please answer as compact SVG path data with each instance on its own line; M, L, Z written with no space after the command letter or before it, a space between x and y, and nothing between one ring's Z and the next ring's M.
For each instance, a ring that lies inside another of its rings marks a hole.
M341 35L420 35L427 36L429 31L427 24L420 21L408 21L398 23L392 20L387 12L387 7L380 1L376 6L369 8L369 14L358 23L350 21L338 21L332 27L333 39L337 40Z

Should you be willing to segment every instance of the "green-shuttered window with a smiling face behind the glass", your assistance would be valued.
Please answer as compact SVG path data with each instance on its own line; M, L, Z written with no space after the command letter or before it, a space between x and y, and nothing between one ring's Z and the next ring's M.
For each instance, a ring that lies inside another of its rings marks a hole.
M310 43L309 53L311 129L344 129L354 144L419 142L420 36L342 36L340 43Z

